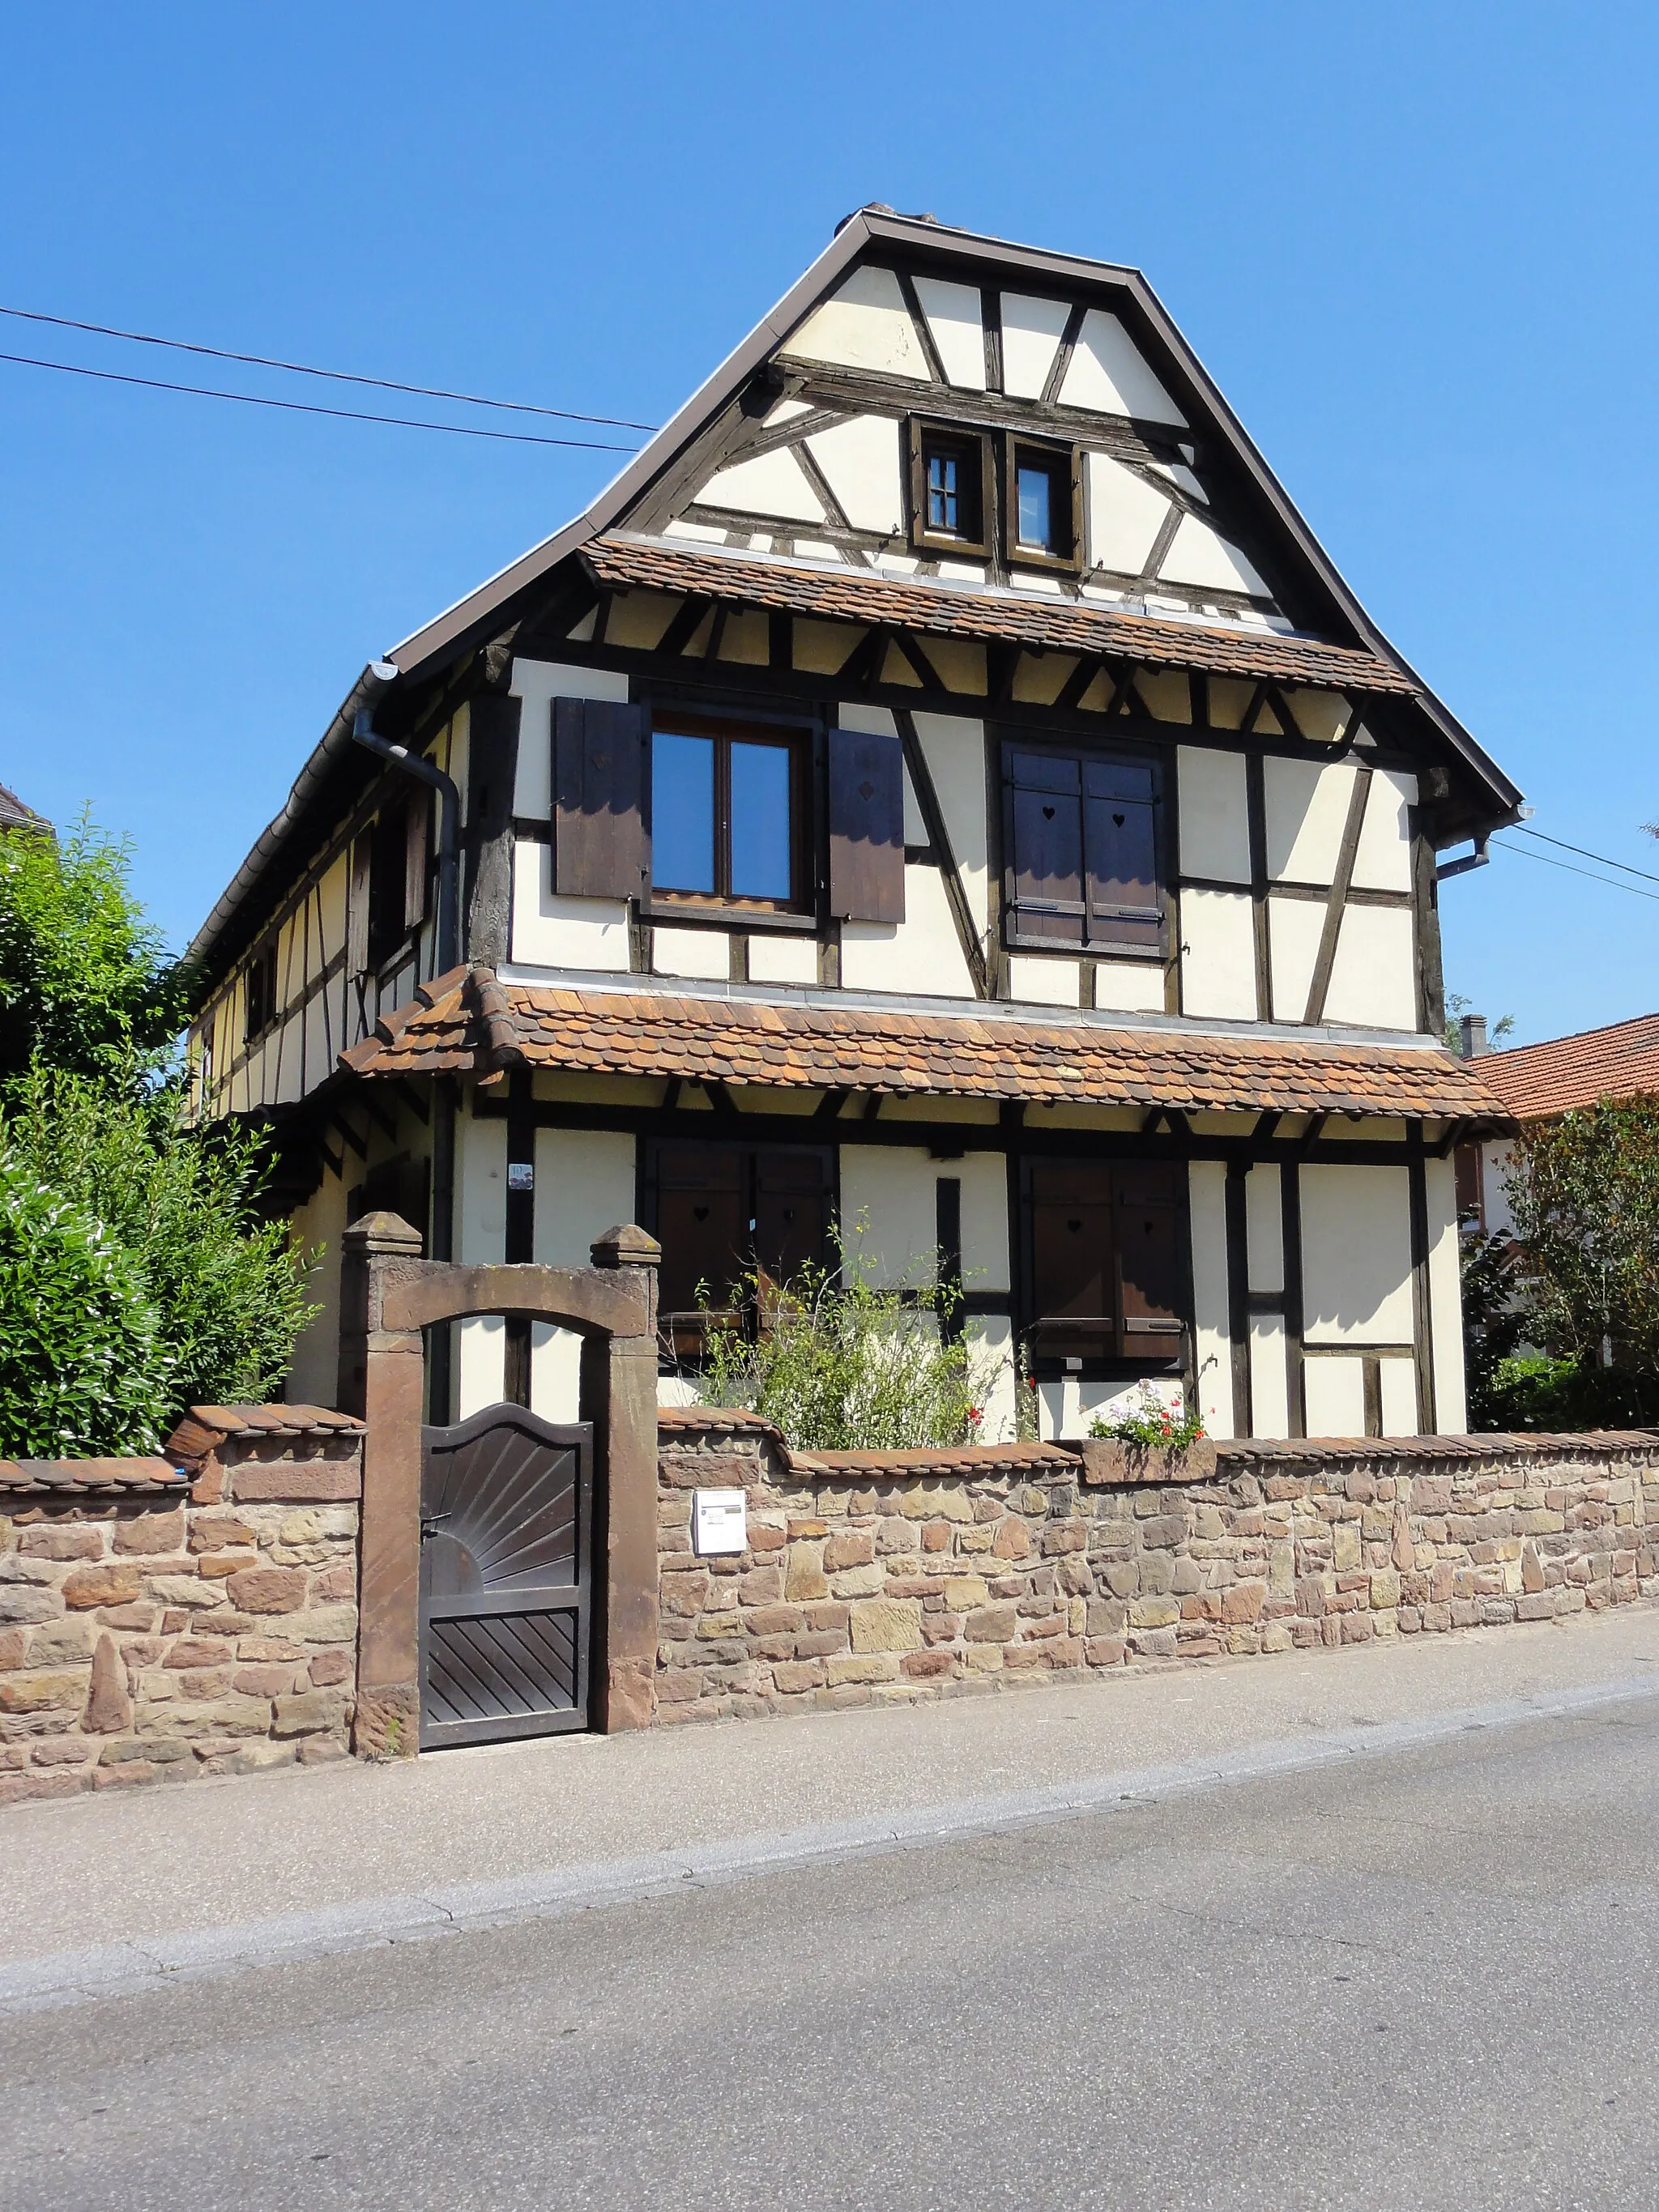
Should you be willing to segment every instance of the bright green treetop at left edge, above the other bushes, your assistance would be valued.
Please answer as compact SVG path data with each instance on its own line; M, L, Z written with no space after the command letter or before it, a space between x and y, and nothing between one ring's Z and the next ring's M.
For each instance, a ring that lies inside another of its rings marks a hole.
M131 847L82 816L0 836L0 1079L35 1060L126 1082L186 1020L186 978L128 889Z

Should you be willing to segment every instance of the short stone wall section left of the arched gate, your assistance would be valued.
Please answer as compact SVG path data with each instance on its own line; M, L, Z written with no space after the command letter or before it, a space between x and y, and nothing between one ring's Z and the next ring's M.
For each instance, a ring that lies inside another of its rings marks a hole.
M361 1491L363 1425L321 1407L0 1462L0 1805L341 1759Z

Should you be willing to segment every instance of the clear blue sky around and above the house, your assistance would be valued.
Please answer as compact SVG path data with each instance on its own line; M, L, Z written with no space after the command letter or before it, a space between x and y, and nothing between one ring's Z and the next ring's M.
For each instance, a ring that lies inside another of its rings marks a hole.
M0 303L657 422L869 199L1137 263L1535 827L1659 874L1657 88L1637 4L58 0L0 27ZM363 661L615 467L4 363L0 425L0 783L131 832L177 945ZM1657 922L1502 854L1447 980L1619 1020Z

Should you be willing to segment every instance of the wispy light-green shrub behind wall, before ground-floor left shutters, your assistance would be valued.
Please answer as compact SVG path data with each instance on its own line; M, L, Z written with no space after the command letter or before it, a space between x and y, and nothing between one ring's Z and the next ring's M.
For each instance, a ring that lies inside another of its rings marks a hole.
M708 1312L708 1285L699 1287L703 1400L763 1413L801 1451L978 1442L995 1358L942 1338L958 1285L936 1272L876 1285L845 1245L838 1256L841 1267L803 1267L783 1287L743 1276L739 1303L759 1321L752 1338L730 1314Z

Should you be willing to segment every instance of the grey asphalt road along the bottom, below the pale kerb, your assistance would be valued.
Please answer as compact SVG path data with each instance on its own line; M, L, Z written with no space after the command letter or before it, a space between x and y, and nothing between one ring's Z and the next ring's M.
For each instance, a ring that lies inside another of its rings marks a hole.
M1659 1697L0 2020L0 2203L1659 2197Z

